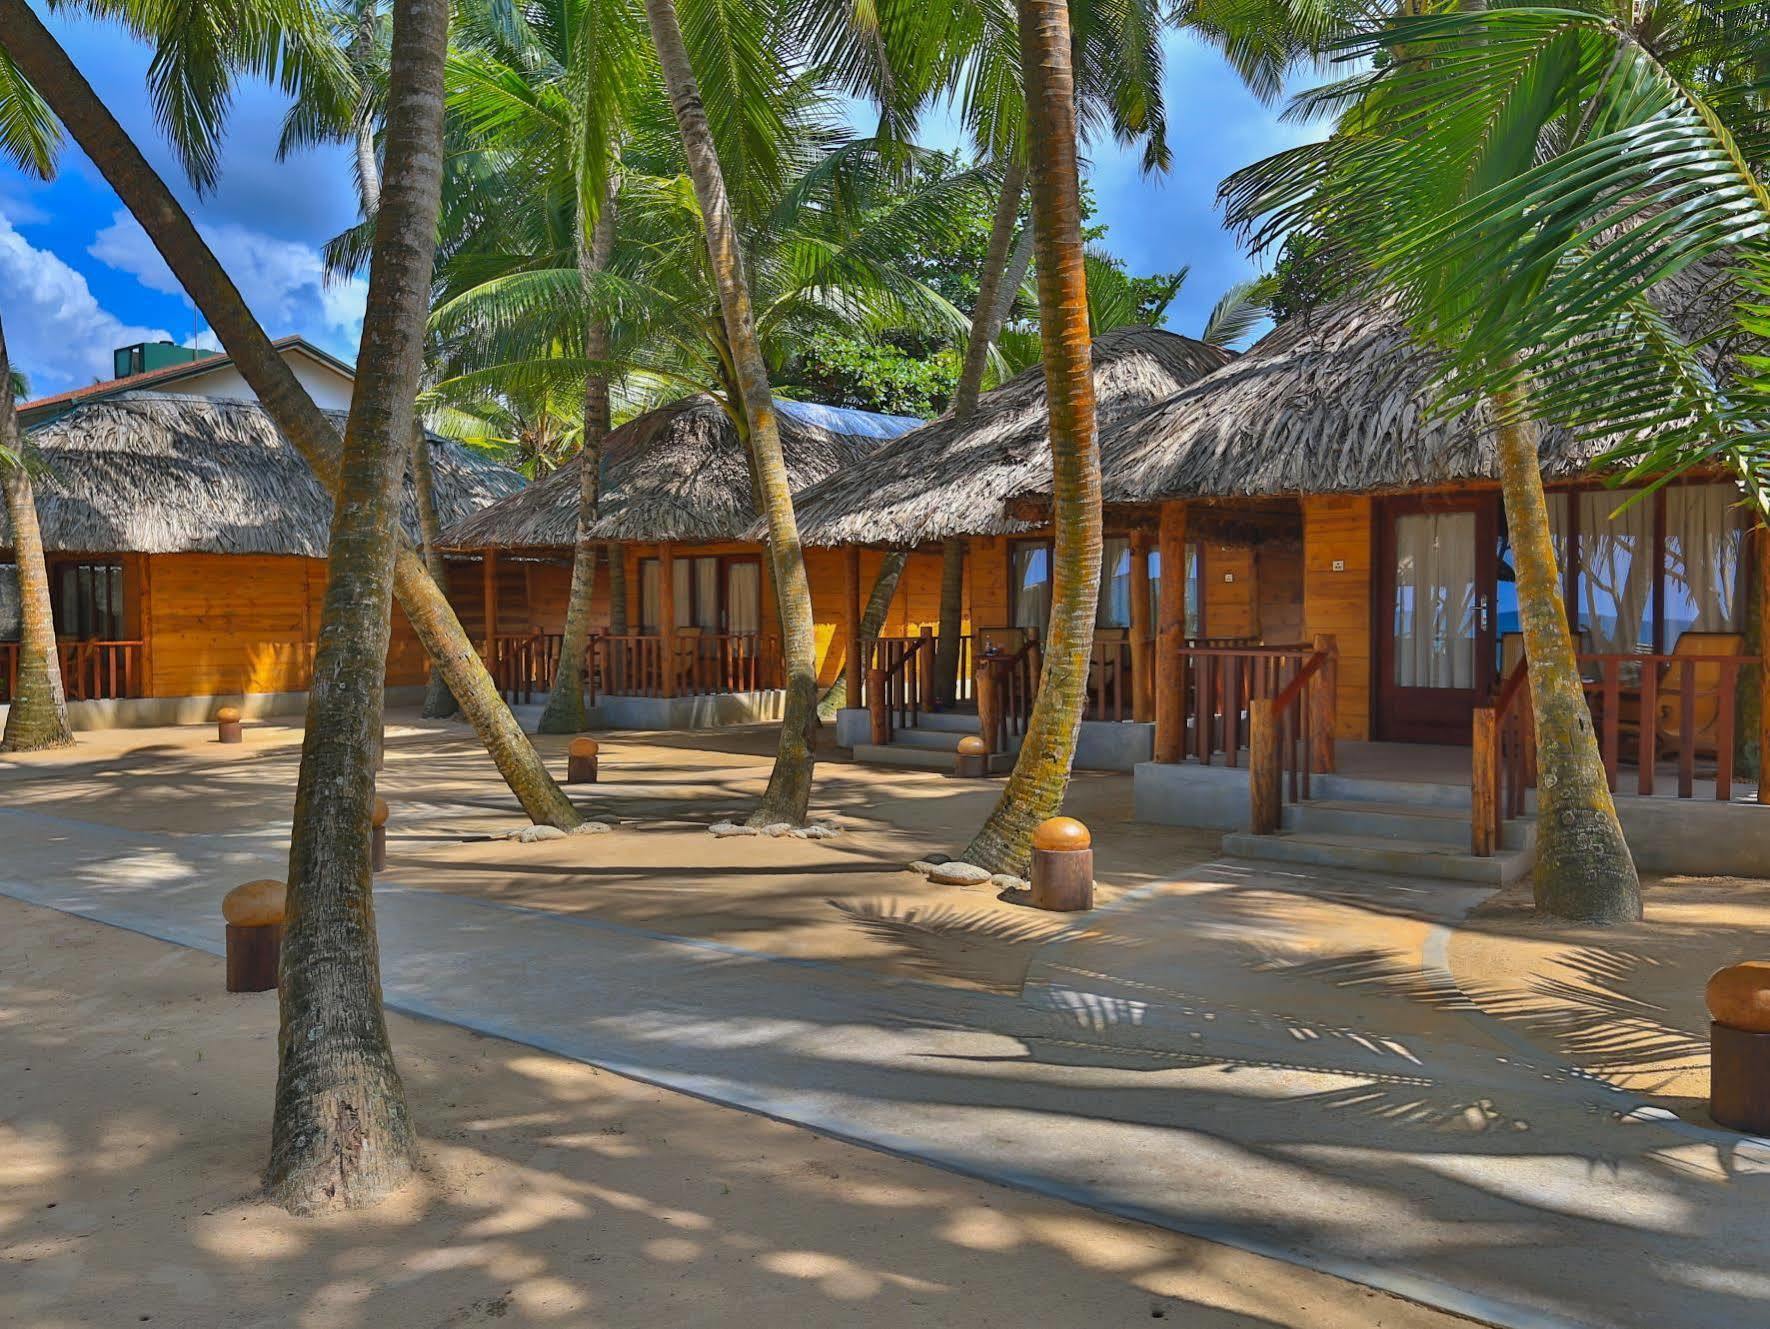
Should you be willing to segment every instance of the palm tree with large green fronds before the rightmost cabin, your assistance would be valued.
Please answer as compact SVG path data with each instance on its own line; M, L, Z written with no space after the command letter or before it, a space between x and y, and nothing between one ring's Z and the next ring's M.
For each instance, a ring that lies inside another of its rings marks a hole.
M1227 186L1243 219L1365 255L1446 349L1448 405L1492 405L1538 724L1535 894L1563 917L1637 918L1641 901L1556 591L1535 428L1621 439L1634 476L1726 460L1765 510L1758 372L1717 380L1651 297L1697 264L1736 264L1747 288L1770 278L1761 104L1735 78L1754 67L1751 32L1696 5L1397 18L1343 44L1374 67L1320 94L1343 106L1326 145ZM1751 304L1738 322L1761 333Z

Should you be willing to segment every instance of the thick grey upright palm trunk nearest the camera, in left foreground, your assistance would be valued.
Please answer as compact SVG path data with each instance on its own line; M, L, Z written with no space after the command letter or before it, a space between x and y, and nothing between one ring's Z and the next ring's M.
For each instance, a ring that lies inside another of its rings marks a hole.
M395 0L386 193L375 221L289 848L266 1187L292 1212L372 1205L418 1166L418 1138L381 1009L368 841L400 481L411 453L442 198L446 48L448 0Z

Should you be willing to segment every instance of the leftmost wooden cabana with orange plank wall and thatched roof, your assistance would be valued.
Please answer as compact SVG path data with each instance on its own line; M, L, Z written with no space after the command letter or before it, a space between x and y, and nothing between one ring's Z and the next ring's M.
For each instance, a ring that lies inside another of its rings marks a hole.
M42 467L37 515L76 724L207 718L223 699L251 713L301 710L331 499L260 405L119 391L46 416L27 444ZM522 487L460 444L434 437L430 455L442 520ZM416 540L409 480L404 522ZM0 513L0 568L9 549ZM0 577L0 591L9 584ZM0 703L18 651L7 600L0 593ZM389 687L421 685L425 669L395 611Z

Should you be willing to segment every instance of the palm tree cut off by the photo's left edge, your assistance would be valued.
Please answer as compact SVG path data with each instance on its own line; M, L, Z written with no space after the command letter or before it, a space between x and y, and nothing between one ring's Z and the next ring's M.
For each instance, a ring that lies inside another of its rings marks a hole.
M55 117L11 58L0 53L0 152L19 170L42 179L55 173L62 131ZM12 526L12 561L18 568L19 641L18 683L0 734L0 752L37 752L71 747L74 731L67 722L67 697L62 690L62 662L55 649L55 614L50 603L50 570L42 556L42 531L37 526L37 497L25 467L14 398L25 396L25 375L12 368L0 329L0 488L5 490L7 519Z

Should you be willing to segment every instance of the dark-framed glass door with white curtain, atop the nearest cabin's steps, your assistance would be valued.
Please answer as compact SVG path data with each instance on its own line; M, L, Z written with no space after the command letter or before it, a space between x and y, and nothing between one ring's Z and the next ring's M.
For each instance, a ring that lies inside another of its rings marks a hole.
M1377 738L1467 743L1494 690L1497 495L1377 508Z

